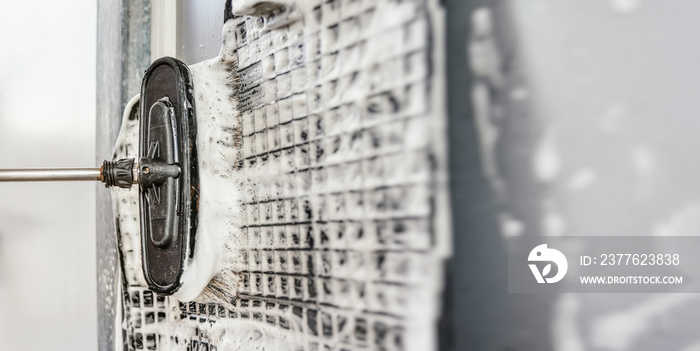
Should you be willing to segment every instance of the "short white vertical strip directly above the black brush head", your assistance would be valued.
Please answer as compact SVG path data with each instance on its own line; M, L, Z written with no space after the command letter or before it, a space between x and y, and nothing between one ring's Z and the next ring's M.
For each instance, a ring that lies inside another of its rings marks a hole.
M151 1L151 61L176 55L178 1Z

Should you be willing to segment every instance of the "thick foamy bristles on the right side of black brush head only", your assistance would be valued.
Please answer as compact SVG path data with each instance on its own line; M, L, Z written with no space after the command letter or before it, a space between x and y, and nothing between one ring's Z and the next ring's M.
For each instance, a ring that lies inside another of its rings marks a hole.
M242 257L232 247L243 235L237 67L226 43L219 56L189 67L197 119L199 218L194 255L183 272L182 286L173 295L180 301L230 306L241 282L236 268Z

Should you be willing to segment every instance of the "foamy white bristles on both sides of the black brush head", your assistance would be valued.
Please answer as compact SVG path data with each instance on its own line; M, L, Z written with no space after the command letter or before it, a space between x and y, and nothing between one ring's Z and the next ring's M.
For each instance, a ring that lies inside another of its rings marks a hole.
M234 28L224 25L224 38ZM185 261L181 287L173 294L180 301L221 303L232 307L245 268L247 245L241 232L241 194L245 181L240 172L242 125L238 112L238 64L231 45L224 41L221 54L189 66L194 85L199 167L198 226L193 257ZM113 159L137 158L139 97L134 97L122 119ZM121 267L128 286L145 286L140 250L138 191L112 188Z

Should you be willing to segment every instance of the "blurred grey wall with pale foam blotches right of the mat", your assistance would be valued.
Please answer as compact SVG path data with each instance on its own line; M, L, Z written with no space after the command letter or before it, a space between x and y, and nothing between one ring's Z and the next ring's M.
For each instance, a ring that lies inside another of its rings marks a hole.
M700 350L700 294L507 294L503 264L518 237L700 235L700 2L445 3L453 349Z

